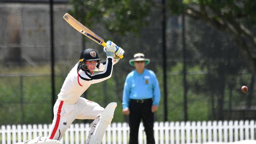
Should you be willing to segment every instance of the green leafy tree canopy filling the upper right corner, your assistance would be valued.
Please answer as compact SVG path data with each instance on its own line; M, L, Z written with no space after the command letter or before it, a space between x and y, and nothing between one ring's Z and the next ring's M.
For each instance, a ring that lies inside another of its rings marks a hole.
M256 1L255 0L169 0L173 14L203 20L234 37L241 56L256 75Z

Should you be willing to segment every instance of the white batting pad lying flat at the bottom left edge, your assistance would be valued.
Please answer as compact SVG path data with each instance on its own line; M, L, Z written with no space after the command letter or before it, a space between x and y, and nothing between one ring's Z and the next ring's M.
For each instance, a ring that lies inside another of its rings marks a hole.
M59 140L48 139L47 137L36 137L33 140L18 142L16 144L61 144L61 142Z

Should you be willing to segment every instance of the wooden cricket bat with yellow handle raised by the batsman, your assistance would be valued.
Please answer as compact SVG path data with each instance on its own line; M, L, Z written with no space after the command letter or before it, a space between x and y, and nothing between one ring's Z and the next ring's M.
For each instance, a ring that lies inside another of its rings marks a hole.
M104 42L104 39L96 35L94 32L83 26L80 22L78 22L75 18L73 18L71 15L66 13L63 18L77 31L85 35L86 37L89 37L91 40L95 41L98 44L101 44L102 46L106 47L106 42ZM122 59L124 56L121 55L120 58Z

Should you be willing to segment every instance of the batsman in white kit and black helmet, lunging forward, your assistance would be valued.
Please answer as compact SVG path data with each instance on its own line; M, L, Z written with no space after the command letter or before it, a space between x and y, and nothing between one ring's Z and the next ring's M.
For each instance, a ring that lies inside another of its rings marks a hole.
M117 103L109 103L104 109L98 103L80 96L90 85L111 78L113 65L124 54L124 50L111 41L106 43L104 52L106 52L106 61L100 63L101 59L95 50L82 51L78 63L70 70L58 94L58 100L53 109L54 119L48 135L49 139L61 140L75 119L91 119L94 121L86 144L101 143L112 121Z

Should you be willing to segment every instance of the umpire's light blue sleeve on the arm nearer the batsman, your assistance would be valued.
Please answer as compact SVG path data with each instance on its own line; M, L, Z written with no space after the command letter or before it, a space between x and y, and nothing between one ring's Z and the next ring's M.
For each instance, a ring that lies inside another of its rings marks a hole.
M124 91L122 94L122 109L129 108L129 101L130 101L130 85L129 85L129 75L125 79L124 83Z

